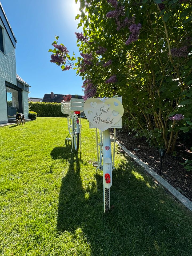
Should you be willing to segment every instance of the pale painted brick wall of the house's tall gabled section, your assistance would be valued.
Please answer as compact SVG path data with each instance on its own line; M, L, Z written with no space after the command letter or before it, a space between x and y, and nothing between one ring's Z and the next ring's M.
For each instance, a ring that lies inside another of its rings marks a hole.
M4 53L0 51L0 123L7 123L7 101L5 80L17 85L16 79L16 61L15 48L11 43L9 35L0 19L0 25L3 28Z

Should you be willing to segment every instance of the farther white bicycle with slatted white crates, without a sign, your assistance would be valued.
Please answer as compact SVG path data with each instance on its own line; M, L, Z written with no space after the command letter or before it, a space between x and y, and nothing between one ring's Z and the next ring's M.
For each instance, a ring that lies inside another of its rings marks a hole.
M71 140L71 152L73 142L75 151L81 150L81 112L83 111L83 99L71 99L70 102L61 102L61 111L67 115L67 125Z

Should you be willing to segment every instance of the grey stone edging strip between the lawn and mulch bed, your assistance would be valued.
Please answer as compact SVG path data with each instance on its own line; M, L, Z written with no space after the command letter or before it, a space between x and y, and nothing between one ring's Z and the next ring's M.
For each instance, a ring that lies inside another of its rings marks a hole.
M148 165L143 163L139 158L137 158L133 153L126 149L121 143L116 141L119 147L125 151L131 158L134 159L140 166L142 166L145 171L150 174L158 183L160 183L166 190L168 190L175 198L177 198L183 205L185 205L190 211L192 211L192 202L182 195L177 189L171 186L165 179L163 179L160 175L158 175L153 169L151 169Z

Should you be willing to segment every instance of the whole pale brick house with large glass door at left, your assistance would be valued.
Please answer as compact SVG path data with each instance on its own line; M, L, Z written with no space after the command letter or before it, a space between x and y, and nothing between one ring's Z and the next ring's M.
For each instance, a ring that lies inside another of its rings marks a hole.
M17 113L28 118L29 85L16 74L17 40L0 2L0 124L15 119Z

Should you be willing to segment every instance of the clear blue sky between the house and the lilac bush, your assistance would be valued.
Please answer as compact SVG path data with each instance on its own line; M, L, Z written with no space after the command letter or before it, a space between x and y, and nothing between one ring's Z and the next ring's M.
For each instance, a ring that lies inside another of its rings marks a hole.
M62 71L50 62L47 51L55 35L70 54L79 56L76 45L75 15L79 12L75 0L0 0L17 39L17 74L30 86L29 97L43 98L45 93L78 94L82 92L82 78L76 70Z

